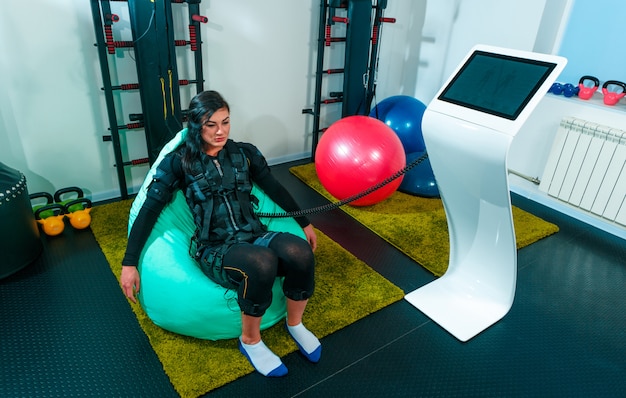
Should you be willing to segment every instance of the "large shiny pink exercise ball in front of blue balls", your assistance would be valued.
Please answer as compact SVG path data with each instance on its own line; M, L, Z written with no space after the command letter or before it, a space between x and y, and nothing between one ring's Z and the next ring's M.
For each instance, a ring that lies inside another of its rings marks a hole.
M402 142L384 122L347 116L324 132L315 151L315 170L326 190L339 200L386 180L406 166ZM393 194L402 178L350 204L369 206Z

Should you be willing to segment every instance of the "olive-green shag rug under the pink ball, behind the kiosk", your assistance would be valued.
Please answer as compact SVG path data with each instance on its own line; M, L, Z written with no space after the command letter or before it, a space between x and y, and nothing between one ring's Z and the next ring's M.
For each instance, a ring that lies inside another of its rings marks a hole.
M290 171L331 202L338 201L320 183L315 164L295 166ZM450 242L441 199L394 192L386 200L372 206L345 205L341 209L435 276L446 272ZM518 249L559 230L556 225L515 206L513 224Z

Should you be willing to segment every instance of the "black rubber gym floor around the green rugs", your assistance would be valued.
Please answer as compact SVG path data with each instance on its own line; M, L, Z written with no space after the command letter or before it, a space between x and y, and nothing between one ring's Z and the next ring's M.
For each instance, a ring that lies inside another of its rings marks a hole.
M274 172L300 204L326 203L289 166ZM294 353L283 379L253 373L207 396L626 396L626 241L513 202L561 231L518 252L513 307L480 335L461 343L402 300L324 338L318 364ZM342 211L312 220L406 292L434 279ZM0 280L0 397L176 397L91 232L42 239Z

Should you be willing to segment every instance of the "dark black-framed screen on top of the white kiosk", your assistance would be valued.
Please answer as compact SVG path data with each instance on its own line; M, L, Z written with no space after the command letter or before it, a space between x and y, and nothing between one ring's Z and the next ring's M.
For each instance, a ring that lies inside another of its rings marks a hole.
M439 99L515 120L556 64L474 52Z

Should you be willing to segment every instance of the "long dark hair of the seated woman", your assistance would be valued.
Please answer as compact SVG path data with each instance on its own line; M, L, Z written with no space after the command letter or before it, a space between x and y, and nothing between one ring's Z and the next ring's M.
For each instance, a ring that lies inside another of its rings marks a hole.
M230 112L228 102L217 91L203 91L191 99L187 111L187 135L184 145L180 148L185 171L191 171L194 162L200 159L204 152L202 125L221 108L226 108Z

